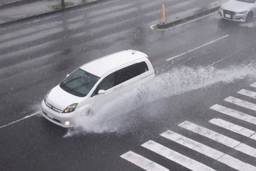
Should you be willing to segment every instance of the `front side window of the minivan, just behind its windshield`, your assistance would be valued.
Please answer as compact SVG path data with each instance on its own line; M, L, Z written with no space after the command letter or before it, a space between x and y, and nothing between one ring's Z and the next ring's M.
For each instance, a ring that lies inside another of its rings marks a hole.
M98 94L99 90L108 90L109 88L112 88L115 86L115 73L109 74L109 76L106 76L105 79L99 83L98 87L95 89L91 97L94 97L94 95Z

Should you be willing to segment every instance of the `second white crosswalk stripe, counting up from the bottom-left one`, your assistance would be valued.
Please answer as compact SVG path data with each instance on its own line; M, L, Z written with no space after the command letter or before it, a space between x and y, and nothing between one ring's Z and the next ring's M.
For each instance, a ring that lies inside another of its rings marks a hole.
M170 161L179 163L180 165L195 171L208 171L208 170L214 170L210 168L209 166L206 166L200 162L197 162L187 156L184 156L182 154L179 154L176 151L173 151L172 149L169 149L161 144L155 143L154 141L150 140L146 143L141 145L142 147L145 147L147 149L150 149L151 151L164 156L165 158L168 158Z

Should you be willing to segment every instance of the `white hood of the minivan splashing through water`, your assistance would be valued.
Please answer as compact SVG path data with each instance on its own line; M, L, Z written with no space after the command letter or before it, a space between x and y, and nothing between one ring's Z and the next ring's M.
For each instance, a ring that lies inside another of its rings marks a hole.
M67 106L74 103L79 103L83 98L72 95L64 90L62 90L59 85L52 88L47 97L48 104L54 106L55 108L64 110Z

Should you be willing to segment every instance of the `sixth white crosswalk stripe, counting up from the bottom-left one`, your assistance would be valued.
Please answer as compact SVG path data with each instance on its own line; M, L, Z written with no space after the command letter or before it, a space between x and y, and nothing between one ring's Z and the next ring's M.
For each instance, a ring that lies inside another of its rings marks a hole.
M214 111L221 112L225 115L235 117L235 118L240 119L240 120L244 120L246 122L256 124L256 117L251 116L251 115L247 115L246 113L242 113L242 112L239 112L239 111L236 111L236 110L233 110L233 109L230 109L230 108L226 108L224 106L217 105L217 104L211 106L210 109L212 109Z

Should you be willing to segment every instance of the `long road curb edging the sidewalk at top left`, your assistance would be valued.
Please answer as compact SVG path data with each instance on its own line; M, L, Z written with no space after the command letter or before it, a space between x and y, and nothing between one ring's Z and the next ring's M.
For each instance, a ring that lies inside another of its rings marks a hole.
M49 11L49 12L38 13L36 15L27 16L27 17L23 17L23 18L20 18L20 19L16 19L16 20L11 20L9 22L0 23L0 27L9 26L10 24L15 24L15 23L19 23L19 22L24 22L24 21L27 21L27 20L30 20L30 19L37 19L37 18L40 18L40 17L53 15L55 13L61 13L61 12L64 12L66 10L72 10L72 9L81 8L81 7L84 7L84 6L94 5L94 4L97 4L97 3L100 3L100 2L105 2L105 1L108 1L108 0L97 0L97 1L93 1L93 2L80 3L78 5L69 6L65 9L56 9L56 10L52 10L52 11Z

